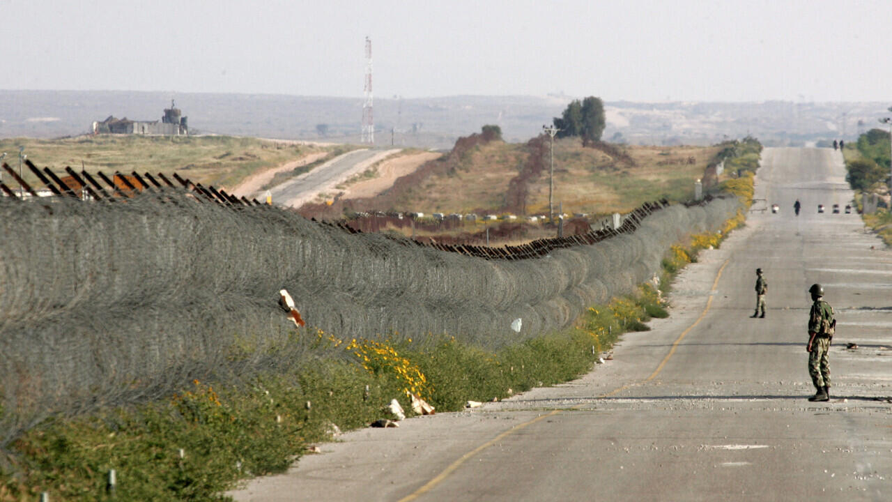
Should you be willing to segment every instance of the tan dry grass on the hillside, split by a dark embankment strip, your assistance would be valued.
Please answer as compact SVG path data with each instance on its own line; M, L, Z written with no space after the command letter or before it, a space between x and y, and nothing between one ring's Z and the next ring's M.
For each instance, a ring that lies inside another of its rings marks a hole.
M662 197L687 200L694 180L703 177L716 146L621 146L633 164L594 148L578 138L558 139L554 146L554 204L565 213L627 212ZM689 163L693 158L693 163ZM399 201L400 211L468 213L494 211L504 203L508 182L527 160L524 145L492 142L469 151L455 172L432 176ZM528 185L527 213L548 213L548 155L542 175Z

